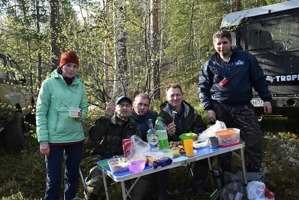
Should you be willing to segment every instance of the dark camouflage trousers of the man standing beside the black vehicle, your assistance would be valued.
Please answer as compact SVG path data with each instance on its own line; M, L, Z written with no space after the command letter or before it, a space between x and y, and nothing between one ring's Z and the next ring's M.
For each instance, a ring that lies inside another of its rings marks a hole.
M240 137L245 142L244 156L247 168L259 169L262 164L262 131L252 104L228 107L212 104L216 119L225 123L227 128L240 129ZM217 156L218 163L230 163L231 152Z

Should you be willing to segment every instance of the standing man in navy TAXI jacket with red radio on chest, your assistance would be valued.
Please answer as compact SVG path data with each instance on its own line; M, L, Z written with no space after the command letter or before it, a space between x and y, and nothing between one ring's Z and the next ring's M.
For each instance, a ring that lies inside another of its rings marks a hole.
M230 32L214 33L213 44L217 52L202 66L199 76L202 107L211 122L223 121L226 127L241 130L247 172L259 172L262 131L250 100L253 87L264 101L264 113L271 114L272 98L263 70L252 54L232 46ZM231 152L219 155L217 161L224 171L231 172Z

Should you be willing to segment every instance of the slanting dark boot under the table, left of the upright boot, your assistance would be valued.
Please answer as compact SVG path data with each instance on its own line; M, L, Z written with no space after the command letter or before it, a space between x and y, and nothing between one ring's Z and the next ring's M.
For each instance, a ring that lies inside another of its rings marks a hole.
M153 183L153 175L148 174L140 177L137 181L136 185L133 188L133 192L131 194L131 200L143 200L147 190Z

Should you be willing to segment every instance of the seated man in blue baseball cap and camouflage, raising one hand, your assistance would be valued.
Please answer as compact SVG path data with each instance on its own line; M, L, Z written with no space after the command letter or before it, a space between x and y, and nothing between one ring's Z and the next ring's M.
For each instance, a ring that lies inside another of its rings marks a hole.
M90 152L88 187L85 188L86 200L98 199L104 192L102 171L97 162L123 155L122 139L136 134L141 136L138 126L131 122L132 100L126 96L119 97L115 104L110 101L106 106L106 113L98 118L89 129L89 137L94 142L94 149ZM110 185L111 178L106 177Z

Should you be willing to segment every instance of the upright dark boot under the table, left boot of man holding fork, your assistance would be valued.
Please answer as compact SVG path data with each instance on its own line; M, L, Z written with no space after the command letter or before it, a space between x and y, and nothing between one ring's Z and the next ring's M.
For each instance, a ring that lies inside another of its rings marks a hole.
M156 172L157 179L157 200L167 200L168 169Z

